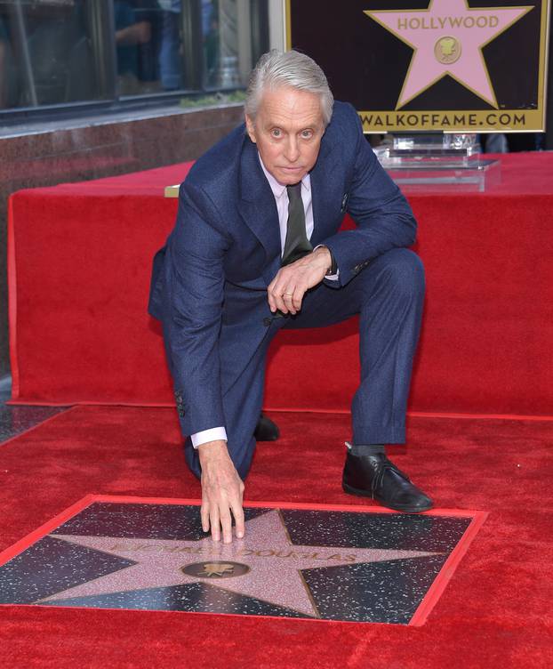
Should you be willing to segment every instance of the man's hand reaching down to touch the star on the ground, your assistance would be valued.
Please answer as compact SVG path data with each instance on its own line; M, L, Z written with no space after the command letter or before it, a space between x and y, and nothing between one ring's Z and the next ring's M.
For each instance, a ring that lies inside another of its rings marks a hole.
M239 539L244 536L244 483L228 455L225 441L202 444L198 447L198 455L202 466L202 528L204 532L211 528L213 541L220 541L222 528L223 543L230 544L232 516L236 523L236 536Z

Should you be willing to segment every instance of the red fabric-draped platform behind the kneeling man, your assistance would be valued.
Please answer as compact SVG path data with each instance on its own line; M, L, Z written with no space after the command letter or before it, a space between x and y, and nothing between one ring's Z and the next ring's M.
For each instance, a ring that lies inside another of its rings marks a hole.
M150 265L189 165L23 190L10 202L13 399L169 405ZM428 296L411 408L549 415L553 403L553 155L501 157L486 193L409 197ZM286 370L298 369L290 388ZM266 406L347 410L356 323L279 335Z

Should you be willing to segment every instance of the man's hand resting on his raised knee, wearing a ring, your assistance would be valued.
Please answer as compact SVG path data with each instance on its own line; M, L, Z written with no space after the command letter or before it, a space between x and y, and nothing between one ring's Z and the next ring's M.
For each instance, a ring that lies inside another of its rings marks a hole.
M326 246L319 246L313 253L278 270L267 289L270 310L291 314L301 310L303 295L321 283L332 263L330 251Z

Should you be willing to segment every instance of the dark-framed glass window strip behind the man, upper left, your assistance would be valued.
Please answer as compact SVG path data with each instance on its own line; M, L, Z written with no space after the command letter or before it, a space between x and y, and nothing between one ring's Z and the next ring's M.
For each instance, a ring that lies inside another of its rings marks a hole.
M0 109L247 84L267 0L0 0Z

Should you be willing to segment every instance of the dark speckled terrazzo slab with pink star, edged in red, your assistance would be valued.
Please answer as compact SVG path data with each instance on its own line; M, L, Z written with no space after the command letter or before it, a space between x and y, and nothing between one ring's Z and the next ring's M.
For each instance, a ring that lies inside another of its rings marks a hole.
M0 555L0 604L421 625L485 520L291 507L220 544L187 500L87 497Z

